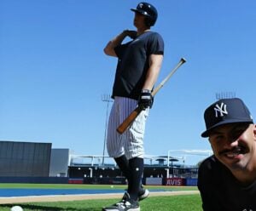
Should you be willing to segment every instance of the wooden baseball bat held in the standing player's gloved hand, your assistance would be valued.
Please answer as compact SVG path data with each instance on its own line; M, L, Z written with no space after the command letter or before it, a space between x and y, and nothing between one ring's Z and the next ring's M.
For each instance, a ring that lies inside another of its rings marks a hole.
M170 79L170 77L172 77L174 72L177 71L177 69L180 66L182 66L183 63L185 63L185 62L186 62L186 60L184 58L182 58L178 62L177 66L175 66L172 69L172 71L166 76L166 78L156 88L154 88L154 90L152 92L153 97L155 94L158 93L160 88L162 88L164 86L164 84ZM130 124L136 119L136 117L140 114L141 111L143 111L143 109L141 107L137 106L137 108L135 110L133 110L128 117L125 118L125 121L119 125L119 127L116 129L117 132L119 132L119 134L123 134L125 132L126 128L128 128L130 126Z

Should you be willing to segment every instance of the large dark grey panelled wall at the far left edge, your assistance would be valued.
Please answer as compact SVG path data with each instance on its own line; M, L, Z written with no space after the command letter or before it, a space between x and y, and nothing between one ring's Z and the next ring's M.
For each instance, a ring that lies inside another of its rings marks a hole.
M51 143L0 141L0 176L49 176Z

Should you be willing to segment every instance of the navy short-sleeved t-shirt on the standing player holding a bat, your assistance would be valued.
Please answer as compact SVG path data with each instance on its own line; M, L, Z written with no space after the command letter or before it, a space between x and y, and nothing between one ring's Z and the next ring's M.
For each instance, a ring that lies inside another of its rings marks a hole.
M131 42L114 48L118 64L113 83L114 96L137 100L148 71L150 54L164 54L164 41L160 34L147 31Z

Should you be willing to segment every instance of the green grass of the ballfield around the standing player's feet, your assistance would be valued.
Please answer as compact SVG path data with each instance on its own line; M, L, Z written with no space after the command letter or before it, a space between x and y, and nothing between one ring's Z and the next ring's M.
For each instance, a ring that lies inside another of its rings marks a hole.
M78 188L78 189L109 189L110 185L49 185L49 184L0 184L1 188ZM114 185L115 189L125 189L125 185ZM166 191L195 191L196 187L190 186L146 186L149 190L162 189ZM104 200L83 200L83 201L69 201L69 202L30 202L20 203L19 205L24 210L70 210L70 211L101 211L102 207L108 206L117 202L116 199ZM168 197L148 197L148 199L140 202L142 211L201 211L201 197L199 194L195 195L181 195ZM0 210L7 211L14 206L14 204L0 204Z

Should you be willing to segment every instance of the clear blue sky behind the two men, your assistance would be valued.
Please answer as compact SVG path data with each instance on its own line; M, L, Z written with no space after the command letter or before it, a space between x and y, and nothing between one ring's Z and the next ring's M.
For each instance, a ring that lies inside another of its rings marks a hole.
M0 140L50 142L75 154L102 155L102 95L111 94L116 66L102 49L119 32L134 29L130 9L137 3L0 0ZM203 111L217 93L236 93L256 116L256 3L149 3L159 11L152 31L165 40L157 84L180 58L187 63L155 97L146 153L210 150L200 134ZM186 163L203 158L186 157Z

